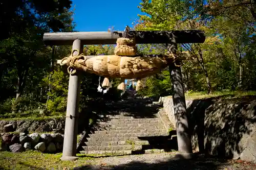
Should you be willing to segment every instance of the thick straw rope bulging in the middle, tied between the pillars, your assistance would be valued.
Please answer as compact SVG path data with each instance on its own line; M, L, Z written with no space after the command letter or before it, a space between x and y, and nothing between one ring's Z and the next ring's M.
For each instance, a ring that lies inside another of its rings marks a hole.
M68 72L71 75L75 74L77 69L81 69L100 76L142 78L152 75L170 62L173 62L175 66L181 66L181 60L184 59L181 54L188 53L166 54L164 58L135 57L137 47L134 38L118 38L117 44L115 55L87 58L83 54L79 55L79 50L73 50L69 57L61 60L60 65L68 65ZM74 55L75 51L78 52L77 55Z

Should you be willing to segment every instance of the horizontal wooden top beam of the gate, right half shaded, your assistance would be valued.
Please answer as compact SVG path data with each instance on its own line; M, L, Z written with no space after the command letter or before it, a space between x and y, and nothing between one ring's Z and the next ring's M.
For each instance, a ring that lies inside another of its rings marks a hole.
M46 45L72 45L76 39L83 45L116 44L123 32L72 32L72 33L45 33ZM153 43L203 43L205 35L203 31L129 31L127 38L135 37L136 44Z

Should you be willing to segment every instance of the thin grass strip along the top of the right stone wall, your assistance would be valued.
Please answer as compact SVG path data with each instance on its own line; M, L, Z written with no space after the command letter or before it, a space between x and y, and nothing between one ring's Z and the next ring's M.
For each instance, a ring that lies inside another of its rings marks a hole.
M255 95L256 91L215 91L212 94L207 94L206 91L203 92L194 92L190 91L185 93L185 98L188 100L204 99L204 98L213 98L218 96L223 96L223 98L228 98L229 96L241 98L246 95Z

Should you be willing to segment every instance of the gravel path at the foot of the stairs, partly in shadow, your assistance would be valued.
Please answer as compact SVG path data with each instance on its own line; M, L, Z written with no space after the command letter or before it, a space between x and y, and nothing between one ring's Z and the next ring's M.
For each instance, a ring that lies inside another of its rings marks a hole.
M239 160L220 160L198 156L193 160L181 160L174 158L174 153L128 155L99 158L92 162L92 166L76 167L80 169L93 170L132 170L132 169L235 169L253 170L256 165L245 163Z

